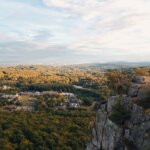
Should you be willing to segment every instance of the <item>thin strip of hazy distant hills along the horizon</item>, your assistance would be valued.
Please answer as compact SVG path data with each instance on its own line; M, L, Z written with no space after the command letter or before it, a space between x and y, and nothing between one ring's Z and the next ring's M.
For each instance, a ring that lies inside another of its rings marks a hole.
M99 71L108 71L113 69L129 69L136 67L150 67L150 62L108 62L108 63L86 63L86 64L72 64L72 65L1 65L2 68L16 67L16 68L79 68L79 69L94 69Z

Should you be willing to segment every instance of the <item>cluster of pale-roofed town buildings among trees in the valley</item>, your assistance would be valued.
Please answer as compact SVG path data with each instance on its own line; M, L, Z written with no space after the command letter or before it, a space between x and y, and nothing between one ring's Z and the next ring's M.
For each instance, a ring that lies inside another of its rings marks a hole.
M38 96L55 96L55 95L61 95L64 97L63 102L58 102L54 107L56 109L77 109L80 107L82 101L79 100L73 93L67 93L67 92L57 92L57 91L43 91L43 92L20 92L15 95L13 94L0 94L0 102L3 100L6 100L8 103L11 103L11 105L7 105L5 108L6 111L34 111L34 103L37 100L36 98ZM21 101L22 97L27 97L29 100L27 101ZM18 104L21 105L18 105Z

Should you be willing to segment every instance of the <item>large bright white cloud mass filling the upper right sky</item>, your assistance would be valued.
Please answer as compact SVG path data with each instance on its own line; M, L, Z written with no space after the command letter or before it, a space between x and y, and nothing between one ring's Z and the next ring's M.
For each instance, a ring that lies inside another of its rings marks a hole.
M73 31L80 37L72 49L87 53L149 54L150 2L145 0L43 0L49 7L76 13L81 24ZM90 31L91 29L91 31ZM118 50L119 49L119 50ZM140 56L139 56L140 57Z

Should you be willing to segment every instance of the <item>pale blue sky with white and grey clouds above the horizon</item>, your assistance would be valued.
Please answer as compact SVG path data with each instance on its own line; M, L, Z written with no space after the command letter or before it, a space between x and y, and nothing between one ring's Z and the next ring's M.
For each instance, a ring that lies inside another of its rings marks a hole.
M0 64L150 60L150 0L0 0Z

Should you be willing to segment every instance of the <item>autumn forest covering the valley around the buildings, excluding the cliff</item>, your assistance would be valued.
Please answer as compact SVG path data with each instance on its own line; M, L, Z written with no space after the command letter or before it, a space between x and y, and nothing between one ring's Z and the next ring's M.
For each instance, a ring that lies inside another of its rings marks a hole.
M53 104L62 102L63 97L34 96L34 111L7 112L2 111L3 108L11 106L12 103L1 98L0 149L84 150L91 138L96 108L110 95L127 94L131 82L137 75L149 76L150 68L101 70L100 67L89 66L1 67L1 95L26 91L69 92L75 94L82 104L78 109L59 110L55 109ZM145 103L140 105L148 110L148 97L145 98Z

